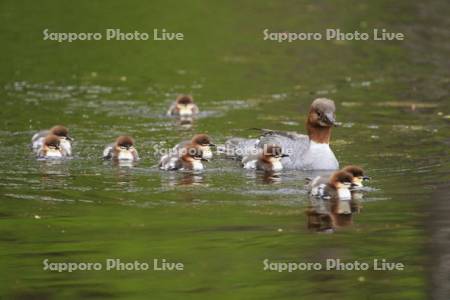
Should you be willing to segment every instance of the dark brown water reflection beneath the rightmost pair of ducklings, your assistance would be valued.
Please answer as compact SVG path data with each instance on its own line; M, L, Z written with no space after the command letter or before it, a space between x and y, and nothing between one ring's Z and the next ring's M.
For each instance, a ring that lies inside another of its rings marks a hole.
M353 214L361 211L356 199L340 200L338 198L310 198L306 209L307 228L318 232L332 233L338 228L353 225Z

